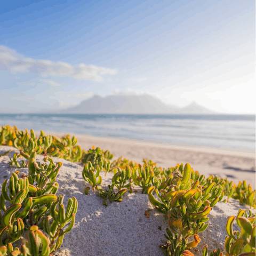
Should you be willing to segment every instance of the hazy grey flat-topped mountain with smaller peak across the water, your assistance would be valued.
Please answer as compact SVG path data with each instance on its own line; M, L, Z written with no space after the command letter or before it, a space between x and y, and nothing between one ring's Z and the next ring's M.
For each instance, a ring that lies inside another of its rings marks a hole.
M58 114L214 114L196 103L185 108L168 105L149 94L94 95L79 105L58 111Z

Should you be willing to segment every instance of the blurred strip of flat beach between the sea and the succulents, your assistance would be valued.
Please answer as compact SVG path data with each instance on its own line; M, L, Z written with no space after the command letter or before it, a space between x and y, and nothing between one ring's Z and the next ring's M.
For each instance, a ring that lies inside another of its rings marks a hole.
M46 135L61 137L66 133L45 132ZM36 132L39 135L39 131ZM246 180L256 189L255 151L231 148L211 148L195 145L153 143L135 141L127 138L92 137L82 134L75 135L77 144L88 150L100 147L114 154L114 159L123 156L131 161L142 163L143 158L151 159L161 167L173 167L177 163L189 163L199 173L218 175L235 183Z

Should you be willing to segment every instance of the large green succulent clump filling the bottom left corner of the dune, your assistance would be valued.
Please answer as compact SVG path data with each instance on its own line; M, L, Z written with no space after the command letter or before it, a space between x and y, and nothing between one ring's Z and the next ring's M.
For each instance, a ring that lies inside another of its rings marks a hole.
M31 162L32 159L35 158L31 158ZM74 226L77 200L69 198L65 212L63 196L55 195L59 187L56 176L61 164L50 165L43 173L34 163L34 167L29 167L29 175L19 178L19 172L14 172L8 186L7 180L4 181L0 196L3 212L0 212L0 255L14 255L11 254L12 243L19 239L22 245L20 249L14 249L15 255L49 255L60 247L64 234ZM25 233L27 239L23 237Z

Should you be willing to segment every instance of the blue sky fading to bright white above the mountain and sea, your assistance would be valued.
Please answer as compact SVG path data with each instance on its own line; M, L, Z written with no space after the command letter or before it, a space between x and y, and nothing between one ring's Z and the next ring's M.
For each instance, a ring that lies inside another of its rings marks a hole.
M0 110L113 94L255 114L255 2L5 1Z

